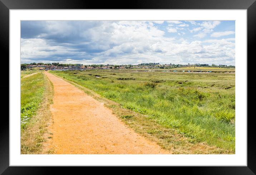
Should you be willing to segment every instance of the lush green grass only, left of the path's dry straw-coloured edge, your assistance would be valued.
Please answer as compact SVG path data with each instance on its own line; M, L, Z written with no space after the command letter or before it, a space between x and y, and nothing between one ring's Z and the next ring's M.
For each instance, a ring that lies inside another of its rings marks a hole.
M30 71L32 72L32 71ZM25 129L42 101L44 87L43 73L21 79L21 129Z

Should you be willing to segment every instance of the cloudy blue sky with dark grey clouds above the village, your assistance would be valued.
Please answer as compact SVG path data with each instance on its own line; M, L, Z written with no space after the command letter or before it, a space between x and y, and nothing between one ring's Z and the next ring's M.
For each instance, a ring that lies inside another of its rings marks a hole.
M235 21L21 21L21 63L235 66Z

